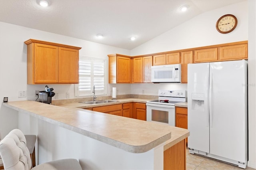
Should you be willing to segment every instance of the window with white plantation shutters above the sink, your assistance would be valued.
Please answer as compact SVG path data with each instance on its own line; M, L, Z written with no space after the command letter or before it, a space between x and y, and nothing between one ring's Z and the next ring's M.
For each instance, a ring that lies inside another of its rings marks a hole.
M79 84L76 85L76 96L92 95L93 85L96 95L107 94L106 63L106 59L79 56Z

